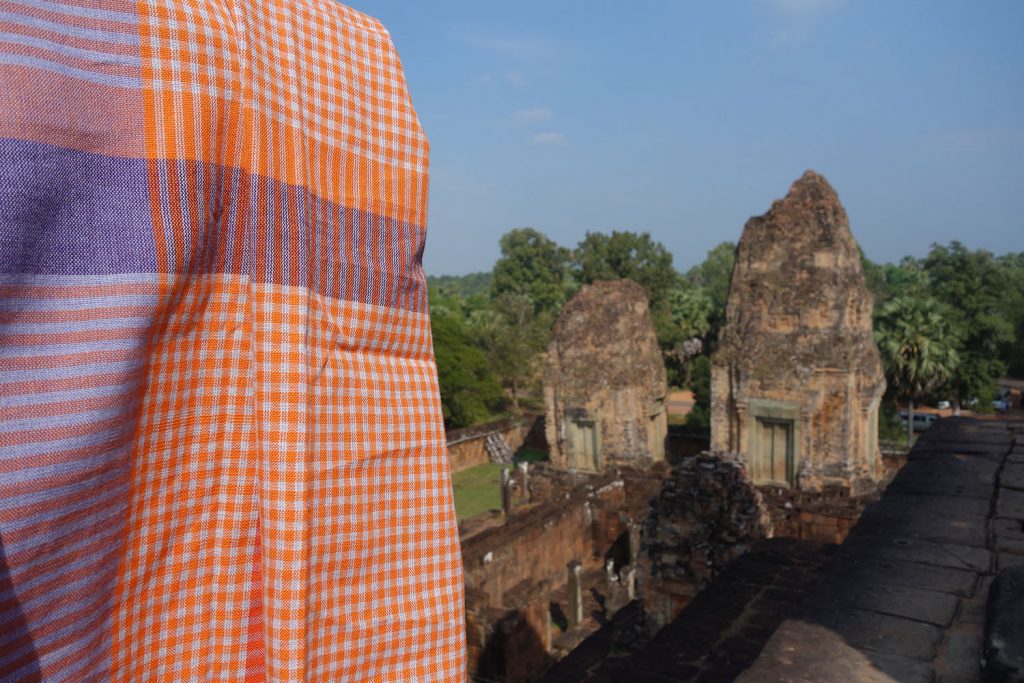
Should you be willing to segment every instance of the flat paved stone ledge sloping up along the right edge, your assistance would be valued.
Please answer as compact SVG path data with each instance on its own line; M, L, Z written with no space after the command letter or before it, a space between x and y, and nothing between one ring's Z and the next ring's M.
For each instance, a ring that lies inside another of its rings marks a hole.
M942 420L737 680L977 681L989 586L1019 564L1024 423Z

